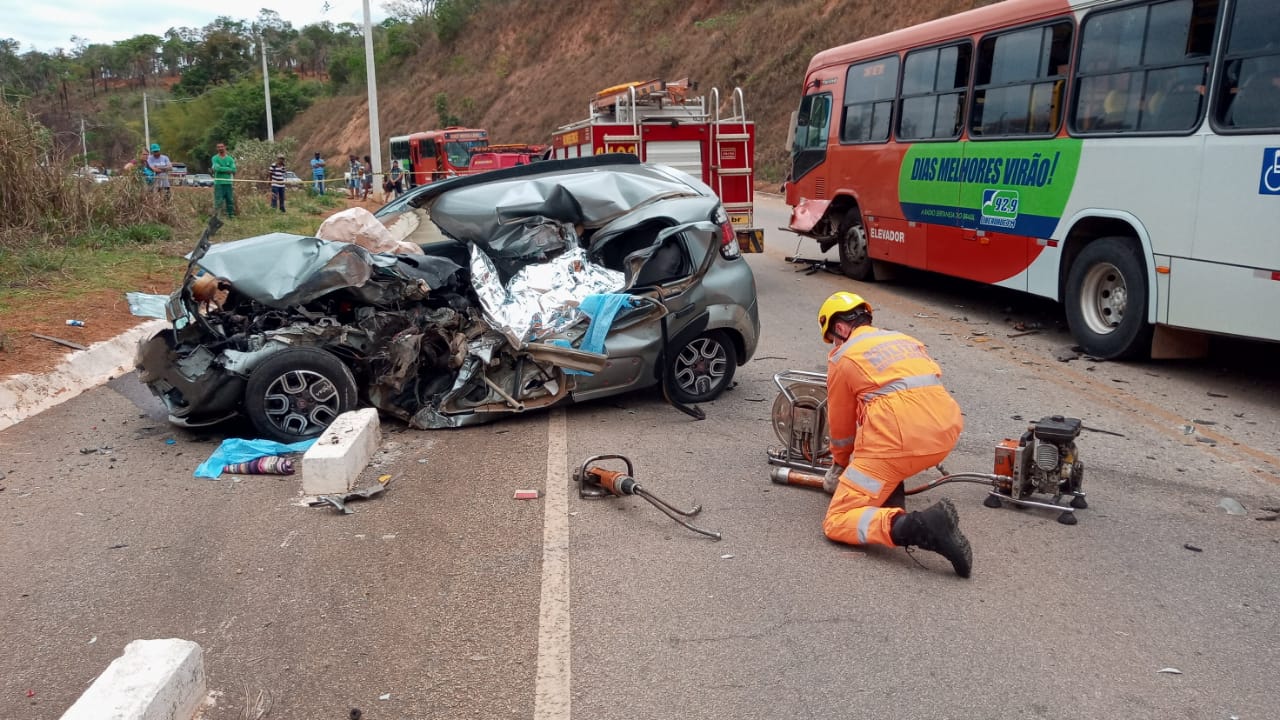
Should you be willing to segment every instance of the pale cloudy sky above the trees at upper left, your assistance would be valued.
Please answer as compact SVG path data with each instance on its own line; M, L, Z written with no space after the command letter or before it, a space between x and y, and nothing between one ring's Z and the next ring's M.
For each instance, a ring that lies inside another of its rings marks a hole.
M70 51L73 35L90 44L146 33L164 37L172 27L201 28L223 15L253 20L262 8L294 28L324 20L362 24L365 17L362 0L0 0L0 38L20 42L19 53ZM369 12L375 23L387 18L381 0L369 0Z

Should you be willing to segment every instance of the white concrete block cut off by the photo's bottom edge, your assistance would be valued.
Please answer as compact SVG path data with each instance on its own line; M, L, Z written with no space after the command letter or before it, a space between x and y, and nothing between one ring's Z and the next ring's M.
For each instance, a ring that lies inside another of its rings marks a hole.
M63 720L191 720L205 701L205 653L177 638L133 641Z

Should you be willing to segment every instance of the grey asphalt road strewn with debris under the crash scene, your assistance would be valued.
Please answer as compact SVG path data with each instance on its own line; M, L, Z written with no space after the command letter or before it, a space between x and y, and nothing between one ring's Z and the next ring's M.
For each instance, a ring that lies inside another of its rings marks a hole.
M701 421L641 392L384 423L366 474L390 489L347 516L300 505L296 478L192 478L219 437L169 428L132 377L0 432L0 717L58 717L159 637L204 647L211 720L1275 716L1280 523L1257 519L1280 506L1276 347L1093 363L1062 354L1052 304L804 274L785 206L758 197L758 222L763 340ZM942 364L965 410L948 469L988 471L1027 420L1083 418L1079 524L986 509L977 486L913 497L960 507L969 580L826 541L826 496L772 486L764 450L772 375L823 369L814 313L840 288ZM595 454L724 539L579 498L568 474Z

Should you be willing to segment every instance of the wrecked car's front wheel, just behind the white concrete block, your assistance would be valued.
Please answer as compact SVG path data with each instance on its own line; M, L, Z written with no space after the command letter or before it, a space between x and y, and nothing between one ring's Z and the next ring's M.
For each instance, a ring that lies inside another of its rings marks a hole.
M244 386L244 414L253 428L261 437L287 443L319 436L357 402L351 369L314 347L269 355Z

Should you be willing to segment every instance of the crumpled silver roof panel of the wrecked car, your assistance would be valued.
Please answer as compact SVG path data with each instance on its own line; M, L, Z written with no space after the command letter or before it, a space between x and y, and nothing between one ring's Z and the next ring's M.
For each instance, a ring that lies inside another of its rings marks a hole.
M598 228L664 197L696 197L687 183L618 172L582 172L545 178L513 178L442 195L431 220L445 233L480 245L494 256L524 256L529 250L511 242L504 225L531 217ZM499 241L494 243L494 238Z

